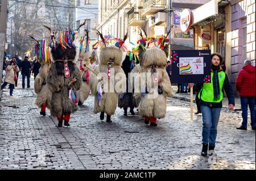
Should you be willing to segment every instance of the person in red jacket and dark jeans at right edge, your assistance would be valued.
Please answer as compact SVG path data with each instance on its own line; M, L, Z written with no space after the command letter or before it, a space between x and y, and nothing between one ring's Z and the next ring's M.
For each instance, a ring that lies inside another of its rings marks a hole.
M251 129L255 130L255 67L250 60L245 60L243 69L236 81L236 87L240 93L242 109L242 125L237 129L247 130L247 107L251 112Z

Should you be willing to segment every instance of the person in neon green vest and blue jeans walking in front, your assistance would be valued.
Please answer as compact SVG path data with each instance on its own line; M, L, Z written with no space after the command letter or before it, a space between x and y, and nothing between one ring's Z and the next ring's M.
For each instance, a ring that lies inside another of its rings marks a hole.
M201 112L203 115L203 132L202 144L203 149L201 155L204 157L216 154L214 153L215 142L217 137L217 125L220 118L222 107L223 90L229 100L229 110L234 108L234 93L232 86L230 86L228 76L221 68L223 58L221 54L211 54L211 82L200 83L197 86L201 87L198 95ZM189 87L193 87L193 83L189 83ZM208 148L209 146L209 148Z

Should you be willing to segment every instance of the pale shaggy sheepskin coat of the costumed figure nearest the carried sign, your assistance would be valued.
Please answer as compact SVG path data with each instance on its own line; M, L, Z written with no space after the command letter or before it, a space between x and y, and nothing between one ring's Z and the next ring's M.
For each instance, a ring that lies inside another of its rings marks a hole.
M144 94L141 96L138 110L142 116L155 117L160 119L166 115L166 98L172 97L171 82L166 72L167 57L163 50L151 47L144 51L142 56L141 72L151 73L151 66L155 65L156 73L158 73L158 85L162 85L162 94L158 94L156 98L149 98L150 94ZM151 81L154 80L151 73Z

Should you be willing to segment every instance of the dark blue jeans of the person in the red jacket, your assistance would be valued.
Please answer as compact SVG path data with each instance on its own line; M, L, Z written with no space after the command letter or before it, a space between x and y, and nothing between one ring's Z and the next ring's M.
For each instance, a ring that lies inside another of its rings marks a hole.
M242 127L247 128L248 105L251 112L251 127L255 127L255 97L241 96L240 100L243 117Z

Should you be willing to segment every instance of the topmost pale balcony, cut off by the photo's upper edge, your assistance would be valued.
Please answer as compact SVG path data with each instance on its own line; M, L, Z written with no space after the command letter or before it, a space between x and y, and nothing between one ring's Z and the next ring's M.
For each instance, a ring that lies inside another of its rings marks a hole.
M144 0L142 15L153 15L166 8L166 0Z

